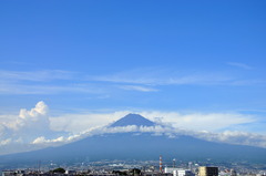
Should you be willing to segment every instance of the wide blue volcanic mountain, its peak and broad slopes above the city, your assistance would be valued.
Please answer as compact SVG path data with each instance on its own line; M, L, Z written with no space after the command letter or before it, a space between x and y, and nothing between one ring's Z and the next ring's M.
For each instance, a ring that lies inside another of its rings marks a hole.
M133 127L136 131L112 131L126 127ZM3 155L0 166L4 167L12 163L12 166L19 167L25 163L35 164L37 161L69 164L101 159L146 161L157 159L158 155L163 155L165 159L174 157L190 161L212 158L213 161L266 163L265 148L207 142L182 134L171 137L149 131L156 127L160 128L160 124L139 114L129 114L106 126L112 133L88 136L58 147Z

